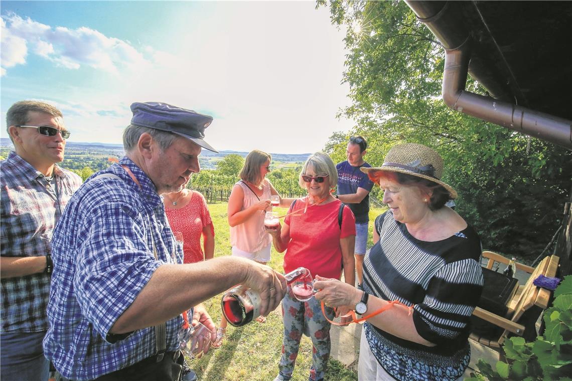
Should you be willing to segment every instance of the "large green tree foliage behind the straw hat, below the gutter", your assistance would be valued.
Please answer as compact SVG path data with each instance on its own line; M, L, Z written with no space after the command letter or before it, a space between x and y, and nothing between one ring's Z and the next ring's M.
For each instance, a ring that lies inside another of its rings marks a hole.
M366 137L367 161L380 165L396 143L433 147L483 246L535 258L570 191L570 152L448 109L440 99L444 51L405 3L331 1L329 9L332 23L347 28L343 80L352 105L341 114L357 122L353 135ZM471 78L467 88L484 94ZM346 142L333 134L326 149L337 157Z

